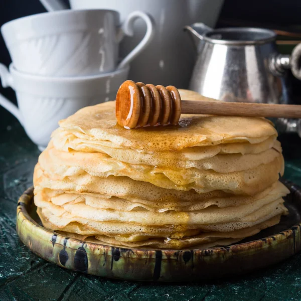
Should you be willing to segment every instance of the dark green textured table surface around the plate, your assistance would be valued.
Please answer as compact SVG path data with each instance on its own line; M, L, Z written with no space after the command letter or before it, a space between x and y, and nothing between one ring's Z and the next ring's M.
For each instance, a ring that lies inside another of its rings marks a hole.
M1 109L0 122L1 301L301 299L301 254L248 275L193 284L105 279L66 270L38 257L18 239L15 224L17 200L32 185L40 152L21 125ZM284 177L301 185L301 139L296 135L279 139L286 159Z

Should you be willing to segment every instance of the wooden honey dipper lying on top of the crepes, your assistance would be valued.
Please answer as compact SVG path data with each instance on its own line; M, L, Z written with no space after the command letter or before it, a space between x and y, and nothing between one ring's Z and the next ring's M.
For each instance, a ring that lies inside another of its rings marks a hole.
M181 100L178 89L125 81L116 95L116 118L127 129L178 124L181 113L301 118L301 105Z

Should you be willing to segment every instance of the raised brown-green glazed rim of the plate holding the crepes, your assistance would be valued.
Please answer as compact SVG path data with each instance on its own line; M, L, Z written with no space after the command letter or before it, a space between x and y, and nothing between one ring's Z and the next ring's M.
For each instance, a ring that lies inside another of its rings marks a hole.
M301 197L301 190L296 185L285 180L282 180L282 182L289 188L290 192L293 194L292 197L294 197L295 192L298 192L298 197ZM237 271L234 268L233 274L239 274L282 261L283 259L290 257L301 249L301 222L276 234L249 242L236 243L230 246L212 247L207 249L196 248L181 250L147 248L131 249L129 247L113 247L105 245L103 243L86 242L75 238L69 238L62 234L56 233L55 231L44 228L31 217L30 213L27 210L29 206L32 206L32 203L33 187L29 188L23 193L23 195L19 199L17 206L17 233L21 241L27 247L29 247L40 257L68 269L94 275L106 276L110 278L119 278L125 280L195 281L196 279L192 278L198 277L199 275L199 279L204 279L203 274L205 276L204 272L196 271L195 268L198 266L205 265L208 268L209 264L210 268L212 264L213 266L218 266L222 263L224 263L225 265L225 261L227 259L236 259L236 261L241 260L240 263L242 266L240 266ZM47 239L47 237L49 238ZM299 237L299 239L296 239L296 237ZM40 250L39 246L35 246L33 244L33 241L37 239L38 241L41 240L41 245L43 245L43 242L44 244L47 244L44 250ZM56 249L60 248L61 250L57 250L56 254L54 251L52 254L51 245L52 247L56 245ZM254 260L258 261L260 260L260 251L264 252L264 254L272 254L271 252L273 252L277 248L281 248L281 245L282 249L279 249L281 253L279 254L279 256L278 253L275 253L276 255L274 254L273 256L275 256L276 258L269 259L267 257L266 262L262 262L258 265L255 264L254 268L251 264L249 267L246 267L245 271L243 271L243 262L248 263L248 258L246 257L248 256L248 254L250 262ZM71 252L72 254L68 255L66 249L69 250L69 252ZM256 257L258 256L258 254L259 257ZM77 255L83 255L83 257L80 259L80 262L78 262L77 265L75 264L75 262L68 264L68 262L71 261L68 261L68 259L76 259ZM97 264L95 263L96 265L98 265L97 267L94 267L93 264L90 263L92 260L90 260L90 256L92 256L92 259L98 258ZM236 257L233 258L234 256ZM255 257L253 258L252 256ZM102 263L104 270L100 270L100 261L102 260L99 259L100 257L103 257L102 259L104 259L104 263ZM106 262L108 261L108 258L109 261L111 260L111 266L109 266L109 264L107 264ZM122 261L119 260L120 258L122 258L124 262L120 263ZM141 260L138 261L138 259L145 260L145 266L147 266L147 269L145 270L147 275L145 277L142 275L143 279L141 279L141 272L138 271L137 268L143 269L145 267L141 265ZM170 263L171 260L172 264ZM113 263L117 266L120 265L115 271L113 271ZM137 266L135 266L135 264L137 264ZM120 270L120 268L125 265L130 265L133 269L128 274L124 274ZM158 269L158 265L160 265L159 274L158 271L156 273L156 266ZM190 268L188 268L189 266ZM178 271L182 272L181 268L183 269L183 275L178 274ZM153 269L151 273L148 273L149 269ZM169 272L174 272L175 276L170 276ZM232 273L230 272L229 275L230 274ZM138 275L140 276L138 277ZM217 275L216 277L219 277L219 275ZM214 275L211 275L208 277L208 279L216 277Z

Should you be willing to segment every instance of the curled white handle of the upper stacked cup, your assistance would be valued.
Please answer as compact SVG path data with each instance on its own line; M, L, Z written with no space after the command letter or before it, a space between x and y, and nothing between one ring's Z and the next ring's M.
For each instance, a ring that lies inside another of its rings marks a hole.
M146 23L146 33L140 43L119 63L117 69L121 69L128 65L149 43L152 41L155 33L155 22L152 17L146 15L145 13L135 11L130 13L125 22L121 26L121 32L119 36L119 41L122 40L124 35L132 37L133 25L136 19L141 18Z

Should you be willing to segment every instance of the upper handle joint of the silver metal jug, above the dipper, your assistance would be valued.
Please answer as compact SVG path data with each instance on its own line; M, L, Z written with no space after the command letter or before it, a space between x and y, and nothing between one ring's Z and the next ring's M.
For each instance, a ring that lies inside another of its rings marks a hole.
M293 76L301 80L301 43L295 46L291 55L273 55L270 59L270 69L276 76L282 76L286 69L290 69Z

